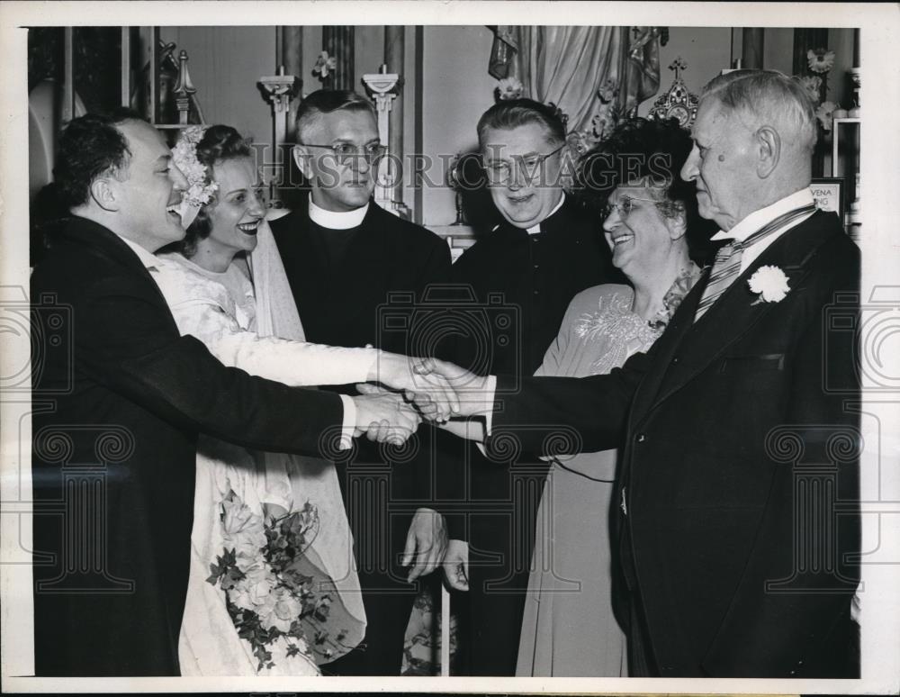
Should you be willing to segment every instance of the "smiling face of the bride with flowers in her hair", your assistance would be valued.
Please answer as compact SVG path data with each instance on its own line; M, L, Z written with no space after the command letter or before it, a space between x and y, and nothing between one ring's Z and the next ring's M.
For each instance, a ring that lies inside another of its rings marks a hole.
M253 158L222 159L212 167L219 185L216 202L207 208L211 230L203 246L231 255L257 246L257 228L266 215L260 177ZM198 243L198 247L200 243Z

